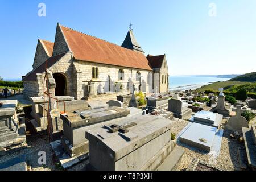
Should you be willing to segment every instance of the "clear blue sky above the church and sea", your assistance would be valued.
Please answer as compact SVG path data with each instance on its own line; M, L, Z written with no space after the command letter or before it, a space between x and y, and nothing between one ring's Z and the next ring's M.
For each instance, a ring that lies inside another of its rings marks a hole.
M119 45L131 22L146 55L166 53L170 75L256 71L255 0L0 0L0 76L31 71L38 39L53 42L57 22Z

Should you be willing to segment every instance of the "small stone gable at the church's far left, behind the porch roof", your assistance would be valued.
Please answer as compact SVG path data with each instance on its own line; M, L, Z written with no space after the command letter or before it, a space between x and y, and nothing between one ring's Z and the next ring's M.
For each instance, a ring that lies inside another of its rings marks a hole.
M46 48L43 46L41 40L38 40L38 45L36 46L36 53L34 58L34 63L32 65L33 69L37 68L39 65L44 63L49 56L46 53Z

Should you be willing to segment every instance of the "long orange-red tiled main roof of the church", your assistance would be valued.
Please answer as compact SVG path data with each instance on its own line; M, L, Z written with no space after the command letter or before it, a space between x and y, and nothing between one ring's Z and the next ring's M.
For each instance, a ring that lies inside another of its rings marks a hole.
M146 57L105 40L60 26L77 60L152 70Z

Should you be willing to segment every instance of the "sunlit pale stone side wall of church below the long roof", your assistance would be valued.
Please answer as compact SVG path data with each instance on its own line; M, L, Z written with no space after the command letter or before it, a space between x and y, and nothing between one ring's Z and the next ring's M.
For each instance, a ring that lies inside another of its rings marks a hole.
M135 84L135 90L139 90L139 81L136 80L136 72L139 71L141 73L141 82L144 86L142 86L142 91L146 92L148 89L148 73L152 74L152 71L145 71L142 69L133 69L126 67L118 67L115 65L105 65L98 63L90 63L87 61L79 61L79 65L77 65L80 69L80 73L76 74L77 77L77 99L81 99L87 93L88 82L92 80L95 82L94 84L94 94L97 94L97 89L100 85L102 85L102 89L104 93L109 92L109 76L110 76L110 92L115 92L115 83L118 82L123 85L123 90L129 90L129 82L130 85ZM92 78L92 67L98 68L98 78ZM118 79L118 71L119 69L123 70L123 80ZM147 87L147 88L145 88ZM148 92L148 91L147 91Z

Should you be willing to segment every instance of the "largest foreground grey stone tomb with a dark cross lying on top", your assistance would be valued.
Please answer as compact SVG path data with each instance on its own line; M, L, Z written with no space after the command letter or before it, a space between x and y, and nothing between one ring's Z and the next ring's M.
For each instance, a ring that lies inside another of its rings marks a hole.
M171 123L168 119L143 115L125 118L118 125L135 122L129 133L138 137L130 142L118 132L108 133L108 128L97 127L86 131L89 140L90 164L97 170L140 170L168 142ZM129 134L130 135L130 134ZM133 135L133 136L134 136Z

